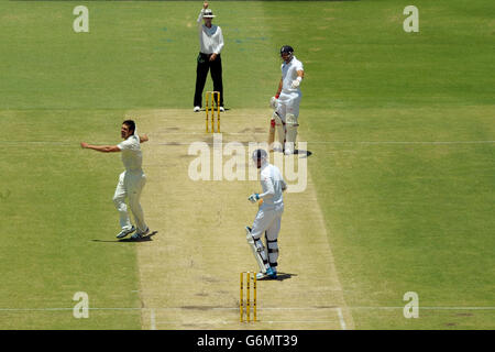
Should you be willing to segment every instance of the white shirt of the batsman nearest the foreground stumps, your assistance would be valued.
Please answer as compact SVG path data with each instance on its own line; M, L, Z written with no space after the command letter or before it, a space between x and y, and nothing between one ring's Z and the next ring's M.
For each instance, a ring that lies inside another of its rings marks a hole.
M263 194L260 195L260 198L263 198L262 208L274 209L284 206L282 194L287 185L278 167L265 163L260 170L260 182L263 188Z

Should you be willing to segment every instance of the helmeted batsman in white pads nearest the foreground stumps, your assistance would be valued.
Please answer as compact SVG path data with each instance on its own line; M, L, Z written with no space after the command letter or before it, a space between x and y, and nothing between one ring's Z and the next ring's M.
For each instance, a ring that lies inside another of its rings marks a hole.
M248 199L256 202L262 199L262 204L254 219L253 227L246 227L246 240L253 250L254 257L260 265L260 273L256 278L276 278L278 260L278 232L280 231L282 213L284 212L283 191L287 189L287 184L282 177L278 167L267 161L268 155L264 150L255 150L253 161L260 169L260 182L262 194L252 194ZM262 234L265 234L267 255Z

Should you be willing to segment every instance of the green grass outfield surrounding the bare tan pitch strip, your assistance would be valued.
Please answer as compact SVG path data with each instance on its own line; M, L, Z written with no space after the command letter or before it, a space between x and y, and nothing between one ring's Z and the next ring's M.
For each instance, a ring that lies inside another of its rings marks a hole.
M90 33L72 29L79 4ZM495 4L414 1L420 32L405 33L408 4L212 1L226 103L266 108L292 44L356 328L494 329L494 309L386 308L409 290L421 307L495 307ZM0 2L0 328L141 327L139 310L6 309L73 307L78 290L91 307L140 307L135 246L92 241L116 232L120 160L78 142L118 141L125 110L193 108L200 6Z

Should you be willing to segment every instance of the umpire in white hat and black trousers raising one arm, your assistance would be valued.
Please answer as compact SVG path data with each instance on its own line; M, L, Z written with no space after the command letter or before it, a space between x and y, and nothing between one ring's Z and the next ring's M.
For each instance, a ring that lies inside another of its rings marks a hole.
M209 69L211 69L211 79L213 79L213 90L220 91L220 111L224 111L222 59L220 57L220 52L223 47L223 35L222 30L211 23L213 18L213 12L208 9L208 2L205 2L198 16L199 45L201 51L198 55L198 66L196 69L195 112L201 110L202 89L205 88ZM205 24L201 24L202 19L205 20Z

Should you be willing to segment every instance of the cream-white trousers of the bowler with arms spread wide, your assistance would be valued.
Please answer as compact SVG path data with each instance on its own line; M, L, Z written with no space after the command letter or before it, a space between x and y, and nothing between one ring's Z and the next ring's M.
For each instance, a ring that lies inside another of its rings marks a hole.
M125 170L119 176L119 183L117 184L116 194L113 195L113 204L116 205L117 210L119 210L120 227L123 230L130 230L132 228L125 198L129 200L129 206L131 207L138 232L144 232L147 229L147 226L144 222L143 209L140 204L141 191L145 184L146 176L143 170Z

